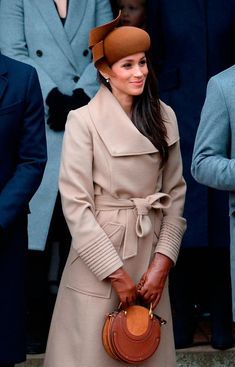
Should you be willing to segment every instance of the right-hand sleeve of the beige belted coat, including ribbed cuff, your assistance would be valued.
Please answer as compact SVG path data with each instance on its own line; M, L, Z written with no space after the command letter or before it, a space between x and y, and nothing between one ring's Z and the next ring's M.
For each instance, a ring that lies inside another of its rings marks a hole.
M174 135L178 135L174 112L168 107L169 120L173 124ZM182 159L179 138L169 146L169 158L162 172L162 192L170 195L172 204L163 211L159 240L155 252L168 256L174 263L177 260L181 240L186 229L186 220L182 217L186 193L186 184L182 173Z

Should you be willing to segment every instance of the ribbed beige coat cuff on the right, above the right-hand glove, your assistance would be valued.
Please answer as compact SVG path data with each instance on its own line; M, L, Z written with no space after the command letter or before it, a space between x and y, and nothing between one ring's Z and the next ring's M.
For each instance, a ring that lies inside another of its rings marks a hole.
M184 218L164 217L155 252L168 256L175 264L185 230L186 220Z

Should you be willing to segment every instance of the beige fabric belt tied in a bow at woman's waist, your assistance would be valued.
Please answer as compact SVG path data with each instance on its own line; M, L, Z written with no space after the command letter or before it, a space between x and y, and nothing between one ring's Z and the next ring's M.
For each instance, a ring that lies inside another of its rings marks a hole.
M95 207L99 211L126 210L126 230L123 245L123 259L137 255L138 237L147 236L152 230L149 212L152 209L169 208L171 197L157 192L145 198L118 199L108 195L96 195Z

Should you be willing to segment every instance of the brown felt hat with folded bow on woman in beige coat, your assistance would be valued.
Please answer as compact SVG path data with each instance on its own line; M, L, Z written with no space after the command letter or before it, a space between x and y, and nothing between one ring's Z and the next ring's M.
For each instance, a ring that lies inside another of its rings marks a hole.
M145 52L150 47L150 37L141 28L117 25L120 15L109 23L90 31L89 47L92 50L95 67L108 75L116 61L138 52Z

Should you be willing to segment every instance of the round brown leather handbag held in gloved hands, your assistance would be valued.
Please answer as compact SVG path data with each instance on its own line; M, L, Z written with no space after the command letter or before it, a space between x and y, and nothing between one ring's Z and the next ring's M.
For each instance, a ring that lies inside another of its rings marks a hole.
M102 339L110 357L140 364L150 358L160 342L161 325L166 321L152 309L134 305L106 316Z

